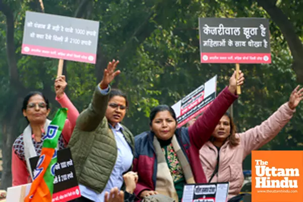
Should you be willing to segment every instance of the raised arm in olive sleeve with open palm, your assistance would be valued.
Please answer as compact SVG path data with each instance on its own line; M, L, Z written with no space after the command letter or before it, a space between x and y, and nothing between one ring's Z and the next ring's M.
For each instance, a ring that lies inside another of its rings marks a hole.
M114 78L120 74L120 71L115 71L119 61L113 60L108 64L108 67L104 70L103 79L96 87L92 101L88 108L85 109L77 119L77 127L83 131L93 131L100 124L105 117L107 110L107 104L109 100L109 84Z

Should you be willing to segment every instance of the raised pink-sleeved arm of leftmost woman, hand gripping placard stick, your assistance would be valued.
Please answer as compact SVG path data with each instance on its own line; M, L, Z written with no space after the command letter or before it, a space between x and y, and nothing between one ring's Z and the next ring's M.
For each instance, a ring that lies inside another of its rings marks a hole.
M55 92L56 92L56 100L61 105L62 108L67 108L67 120L65 121L65 125L62 131L62 135L66 141L69 142L73 130L76 125L76 120L79 116L78 110L75 108L71 100L64 93L64 90L67 86L67 82L65 80L65 76L59 76L55 80Z

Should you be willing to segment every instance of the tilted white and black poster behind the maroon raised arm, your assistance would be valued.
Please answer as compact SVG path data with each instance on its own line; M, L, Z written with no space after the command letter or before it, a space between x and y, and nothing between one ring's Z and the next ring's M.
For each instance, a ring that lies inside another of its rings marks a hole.
M217 75L200 85L172 106L177 116L178 127L204 112L216 98Z

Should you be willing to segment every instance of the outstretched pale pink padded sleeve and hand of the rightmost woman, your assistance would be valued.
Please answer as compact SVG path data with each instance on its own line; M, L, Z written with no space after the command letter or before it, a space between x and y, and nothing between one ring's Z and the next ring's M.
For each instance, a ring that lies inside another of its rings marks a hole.
M290 121L295 112L295 108L303 99L303 88L298 90L297 86L291 93L289 101L283 104L274 114L272 114L261 125L240 133L239 137L244 148L243 159L251 153L252 150L257 150L267 142L272 140L282 128Z

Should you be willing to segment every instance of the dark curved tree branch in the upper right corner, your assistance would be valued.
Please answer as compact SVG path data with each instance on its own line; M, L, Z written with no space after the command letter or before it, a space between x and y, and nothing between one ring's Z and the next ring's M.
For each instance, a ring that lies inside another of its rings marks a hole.
M303 53L303 45L299 36L295 33L293 24L283 11L276 6L275 1L257 0L257 2L266 10L284 35L293 57L292 68L297 75L298 82L303 83L303 58L301 56Z

